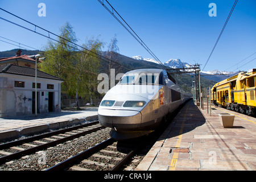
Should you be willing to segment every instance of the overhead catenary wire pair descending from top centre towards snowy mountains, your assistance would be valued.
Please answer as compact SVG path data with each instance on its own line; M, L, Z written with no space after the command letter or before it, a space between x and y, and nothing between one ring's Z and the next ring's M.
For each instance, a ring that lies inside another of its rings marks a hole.
M98 0L98 2L100 2L101 3L101 5L102 6L104 6L105 7L105 9L106 10L108 10L109 11L109 13L131 34L131 36L133 36L133 38L135 39L135 40L137 40L137 42L139 42L139 44L141 44L142 45L142 47L144 48L144 49L146 49L146 51L148 52L148 53L150 53L150 55L152 56L152 57L154 57L154 59L156 60L156 61L158 61L161 65L162 65L162 67L164 68L164 69L167 69L167 67L158 59L158 57L156 57L156 55L150 50L150 48L148 48L147 47L147 45L143 42L143 40L141 39L141 38L139 38L139 36L135 33L135 31L133 30L133 28L131 28L130 26L129 26L129 24L122 18L122 16L114 9L114 7L112 6L112 5L110 5L110 3L107 1L107 0L105 0L108 4L109 4L109 6L112 8L112 11L104 4L104 1L102 0L102 2L100 1L100 0ZM122 23L122 21L117 17L117 16L115 16L114 15L114 12L115 13L117 13L117 15L123 20L123 22L129 27L129 28L127 28L126 26L125 26L125 24L123 24ZM130 30L131 31L130 31ZM170 69L170 68L168 68L168 69Z

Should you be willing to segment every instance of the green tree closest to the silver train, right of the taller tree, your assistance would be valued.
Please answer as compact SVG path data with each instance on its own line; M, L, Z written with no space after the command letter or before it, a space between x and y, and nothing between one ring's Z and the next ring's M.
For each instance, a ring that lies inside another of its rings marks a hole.
M93 88L96 88L97 72L100 66L97 54L101 50L103 43L97 37L90 38L82 44L82 51L76 52L76 59L71 68L72 74L68 75L68 93L76 96L76 106L79 109L79 96L89 96L90 102L93 99Z

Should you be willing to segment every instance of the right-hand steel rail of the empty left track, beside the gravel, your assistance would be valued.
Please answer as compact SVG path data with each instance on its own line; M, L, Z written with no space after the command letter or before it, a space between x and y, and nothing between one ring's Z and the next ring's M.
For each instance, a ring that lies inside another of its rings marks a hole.
M104 128L105 128L104 126L100 126L100 127L95 128L95 129L91 129L91 130L87 130L87 131L83 131L81 133L77 133L77 134L71 135L69 137L57 139L55 141L52 141L52 142L49 142L49 143L46 143L46 144L41 144L40 146L28 148L27 150L24 150L24 151L20 151L20 152L14 153L14 154L3 156L2 158L0 158L0 164L3 164L5 162L8 162L8 161L13 160L13 159L18 159L21 156L32 154L35 151L43 150L45 148L48 148L48 147L51 147L51 146L55 146L58 143L63 143L65 141L67 141L67 140L71 140L73 138L80 137L81 135L92 133L94 131L97 131L97 130L100 130L100 129L104 129Z

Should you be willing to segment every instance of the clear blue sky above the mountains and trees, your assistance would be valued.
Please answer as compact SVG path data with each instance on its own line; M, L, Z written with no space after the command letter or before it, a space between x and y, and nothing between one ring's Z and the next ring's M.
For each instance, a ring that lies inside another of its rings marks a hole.
M46 4L46 17L38 16L38 5L42 2ZM109 2L163 63L169 59L180 59L190 64L199 63L202 69L234 4L234 0ZM208 15L210 3L216 3L216 17ZM119 53L129 57L141 55L152 58L97 0L1 0L0 7L55 34L59 34L59 28L69 22L79 44L84 43L86 37L100 35L100 39L106 43L103 50L117 34ZM227 71L256 68L256 59L253 60L256 57L255 7L255 0L238 1L205 71L226 71L230 67ZM2 10L0 17L35 29ZM44 49L47 43L47 38L2 19L0 25L0 36L4 38L36 49ZM14 48L17 47L0 42L0 51Z

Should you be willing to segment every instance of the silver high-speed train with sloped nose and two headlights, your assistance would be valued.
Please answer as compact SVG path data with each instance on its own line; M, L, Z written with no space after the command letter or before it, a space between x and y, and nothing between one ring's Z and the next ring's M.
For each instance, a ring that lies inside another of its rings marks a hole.
M164 69L137 69L125 73L106 93L98 119L112 129L114 139L137 138L154 131L163 117L189 98Z

